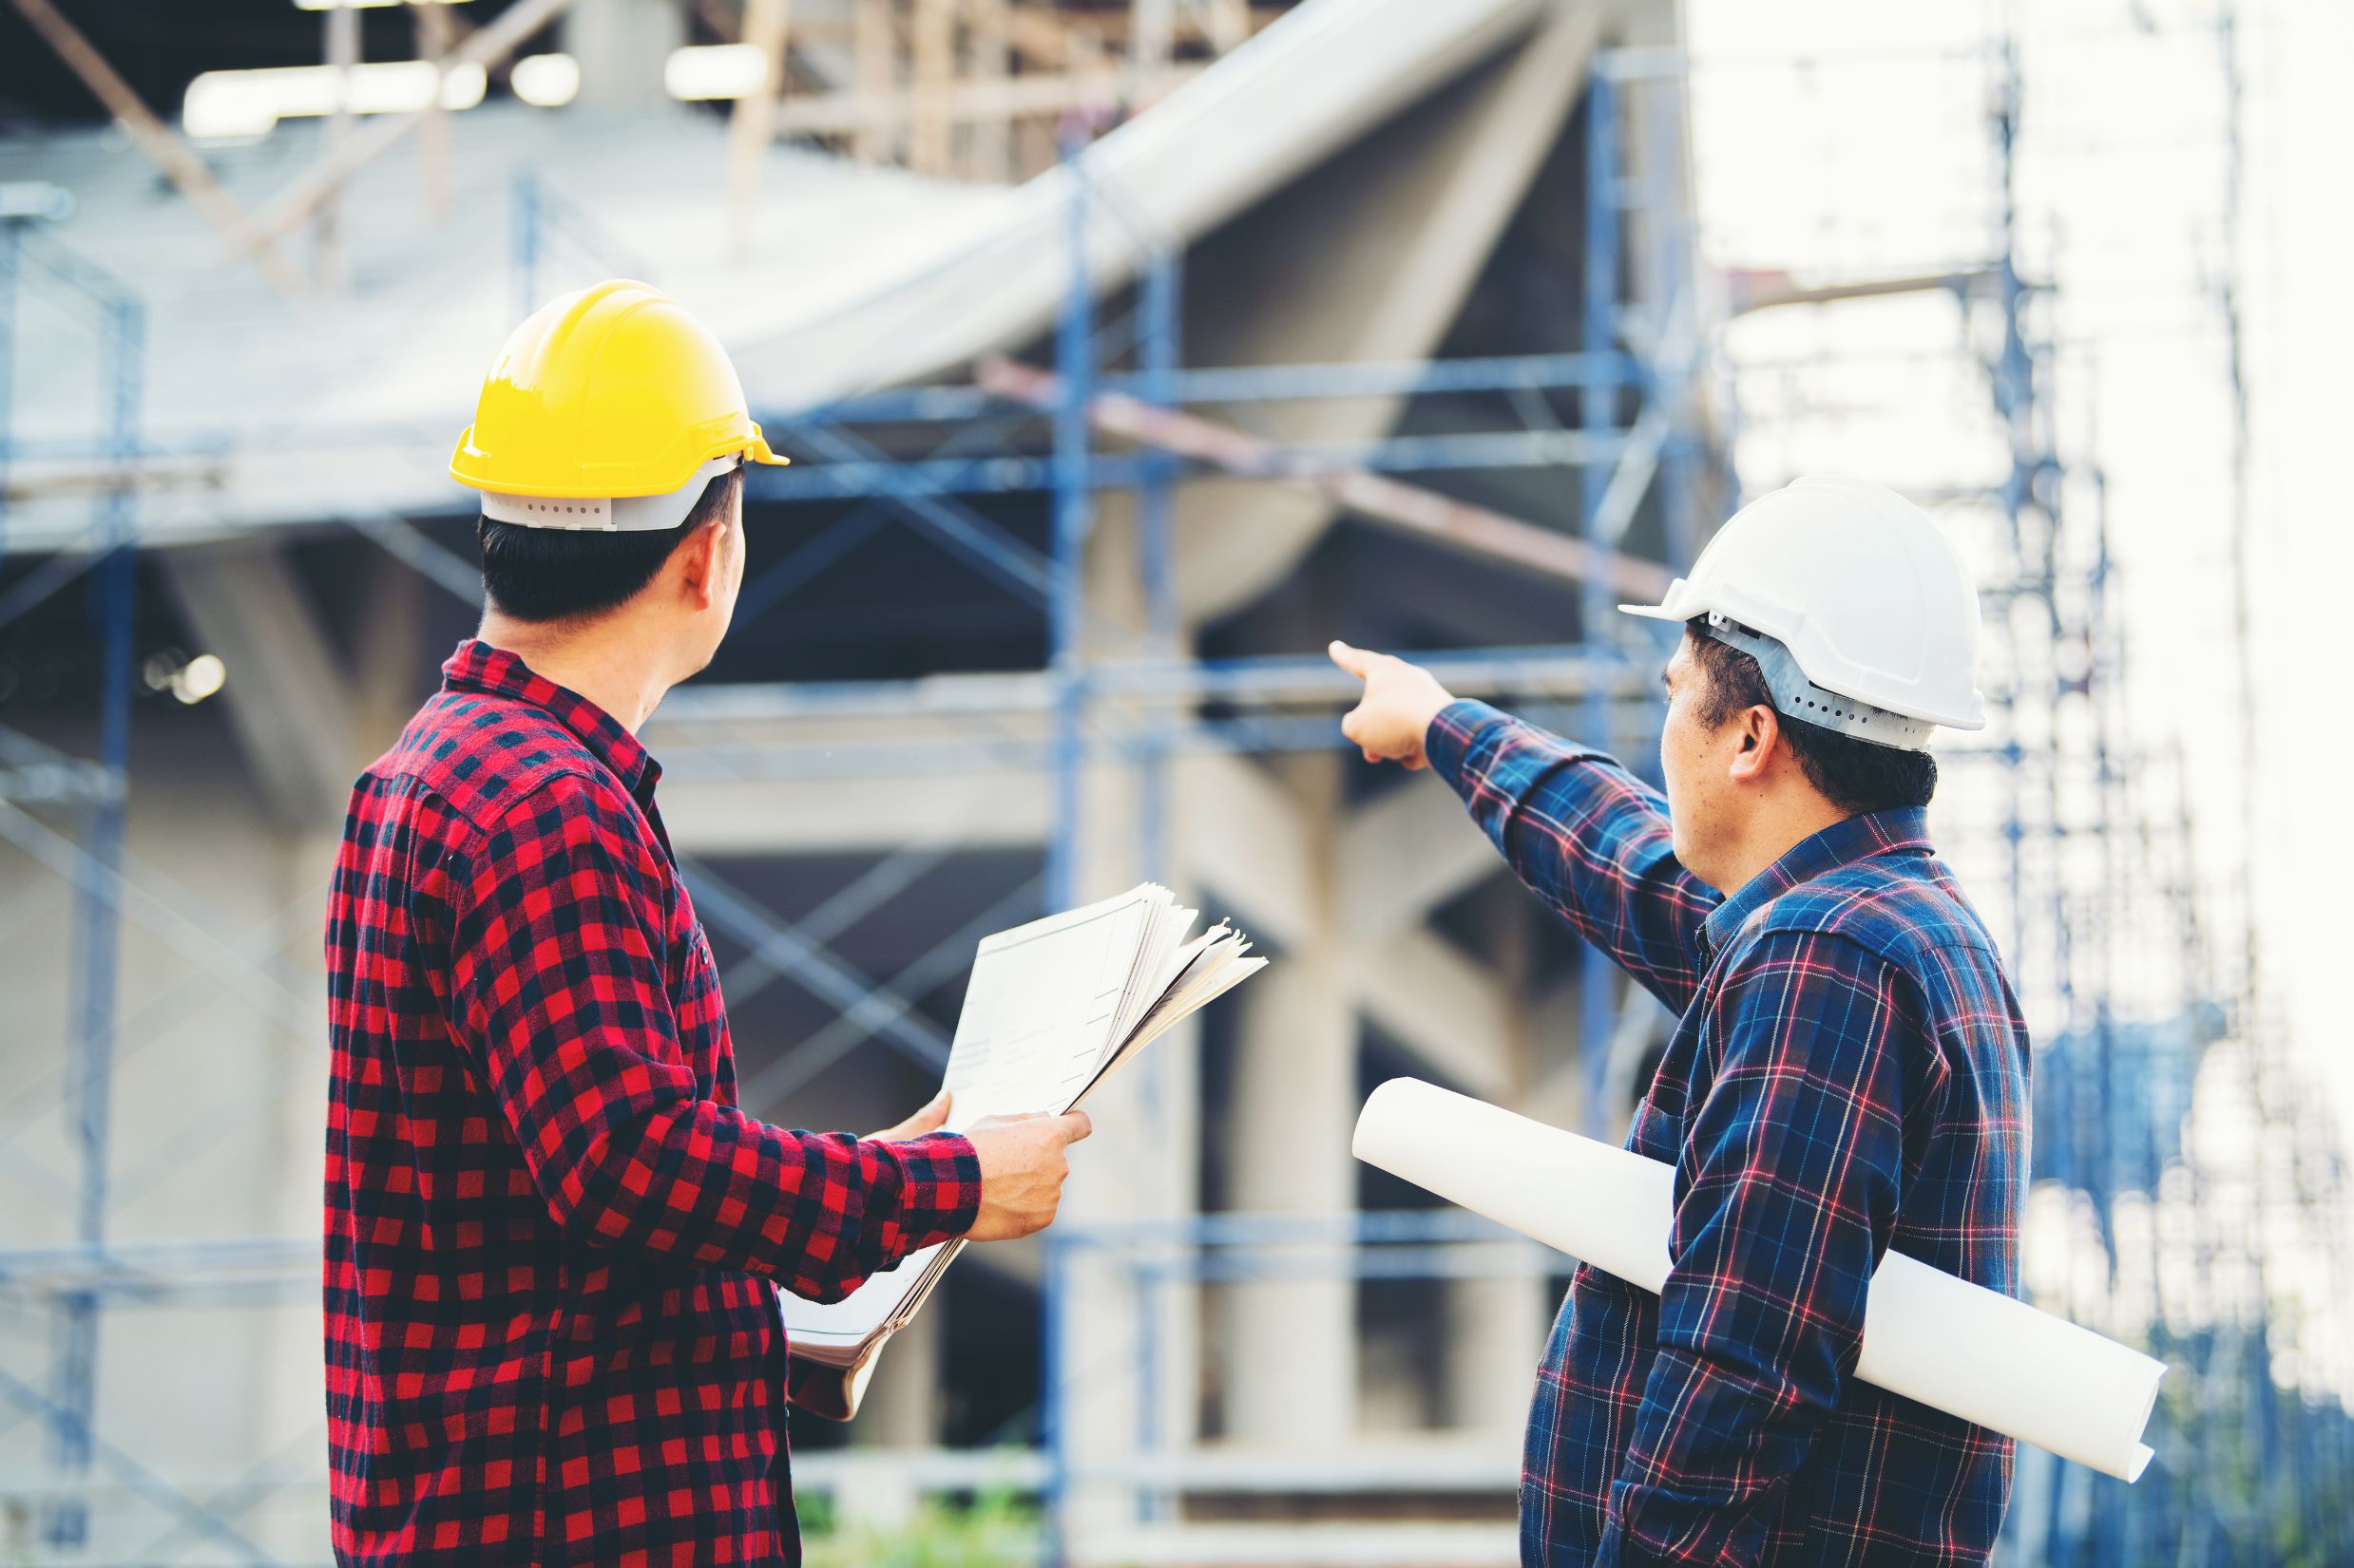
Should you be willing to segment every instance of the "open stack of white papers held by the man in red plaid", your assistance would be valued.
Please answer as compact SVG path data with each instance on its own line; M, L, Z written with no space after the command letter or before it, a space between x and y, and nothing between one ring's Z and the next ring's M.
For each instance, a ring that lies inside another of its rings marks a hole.
M1266 966L1226 924L1189 936L1193 919L1146 882L982 938L949 1051L949 1131L1076 1107L1156 1034ZM883 1342L916 1316L963 1246L913 1253L840 1302L784 1293L793 1359L843 1373L840 1401L819 1401L831 1406L819 1415L857 1413Z

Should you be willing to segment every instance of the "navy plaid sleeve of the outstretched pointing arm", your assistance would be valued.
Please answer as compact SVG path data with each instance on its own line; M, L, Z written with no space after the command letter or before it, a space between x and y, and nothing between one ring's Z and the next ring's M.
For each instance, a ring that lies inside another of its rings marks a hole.
M1537 898L1660 1001L1693 1001L1718 898L1676 860L1657 790L1488 703L1443 708L1422 752Z

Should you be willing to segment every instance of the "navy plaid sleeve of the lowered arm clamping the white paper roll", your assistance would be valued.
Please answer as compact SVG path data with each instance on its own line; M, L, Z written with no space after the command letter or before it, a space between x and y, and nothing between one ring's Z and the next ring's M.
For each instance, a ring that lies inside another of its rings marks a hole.
M1733 959L1676 1166L1660 1354L1596 1563L1761 1559L1862 1347L1902 1197L1904 1079L1942 1072L1909 1048L1923 1027L1902 971L1843 936L1768 931Z

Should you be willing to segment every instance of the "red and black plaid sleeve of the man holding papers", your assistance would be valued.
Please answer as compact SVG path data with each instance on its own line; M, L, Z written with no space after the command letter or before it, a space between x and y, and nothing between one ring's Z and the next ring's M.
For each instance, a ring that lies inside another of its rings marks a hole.
M793 1133L699 1093L629 806L556 778L513 804L452 910L452 1013L556 1222L591 1246L840 1300L979 1211L972 1145Z

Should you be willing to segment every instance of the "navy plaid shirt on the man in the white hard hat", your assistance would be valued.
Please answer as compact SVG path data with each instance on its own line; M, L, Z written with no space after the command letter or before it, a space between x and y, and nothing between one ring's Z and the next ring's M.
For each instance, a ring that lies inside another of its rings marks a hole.
M1627 1133L1676 1166L1667 1288L1577 1269L1528 1418L1521 1561L1984 1563L2010 1439L1850 1380L1890 1246L2020 1276L2027 1025L1923 813L1836 823L1721 898L1608 757L1485 703L1424 750L1514 872L1681 1016Z

